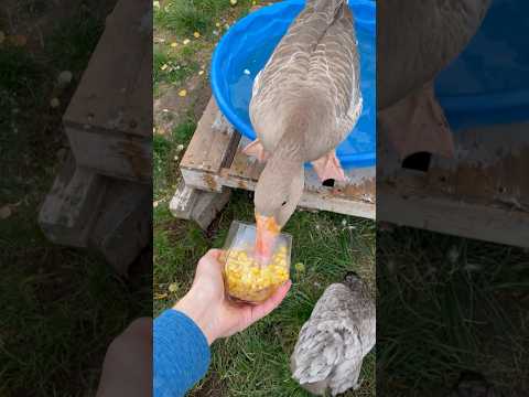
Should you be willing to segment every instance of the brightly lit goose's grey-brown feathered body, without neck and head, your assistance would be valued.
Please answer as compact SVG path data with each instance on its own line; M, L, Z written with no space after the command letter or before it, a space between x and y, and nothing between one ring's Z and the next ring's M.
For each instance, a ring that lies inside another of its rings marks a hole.
M301 161L334 150L360 115L359 78L345 0L307 0L253 83L250 119L264 150Z

